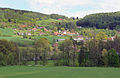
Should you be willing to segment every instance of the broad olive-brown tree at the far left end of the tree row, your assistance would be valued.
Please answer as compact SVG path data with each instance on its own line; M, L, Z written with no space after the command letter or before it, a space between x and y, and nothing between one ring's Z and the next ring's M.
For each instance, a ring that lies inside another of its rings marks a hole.
M17 46L13 42L0 40L0 65L16 65Z

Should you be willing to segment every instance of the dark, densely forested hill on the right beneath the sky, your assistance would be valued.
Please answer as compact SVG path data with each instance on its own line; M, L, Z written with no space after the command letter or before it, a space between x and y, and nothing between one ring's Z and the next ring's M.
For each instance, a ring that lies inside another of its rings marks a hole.
M77 25L82 27L95 27L97 29L119 29L120 12L87 15L78 21Z

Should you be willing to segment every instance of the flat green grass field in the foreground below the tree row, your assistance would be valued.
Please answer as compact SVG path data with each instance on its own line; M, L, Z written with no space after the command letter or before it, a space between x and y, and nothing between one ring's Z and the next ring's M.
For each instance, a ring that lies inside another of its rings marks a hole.
M0 78L120 78L120 68L8 66Z

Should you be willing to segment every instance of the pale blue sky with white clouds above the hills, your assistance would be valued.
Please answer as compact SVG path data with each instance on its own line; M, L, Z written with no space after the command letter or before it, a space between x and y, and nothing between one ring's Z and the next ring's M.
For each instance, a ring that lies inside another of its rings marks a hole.
M120 11L120 0L0 0L0 7L83 18L93 13Z

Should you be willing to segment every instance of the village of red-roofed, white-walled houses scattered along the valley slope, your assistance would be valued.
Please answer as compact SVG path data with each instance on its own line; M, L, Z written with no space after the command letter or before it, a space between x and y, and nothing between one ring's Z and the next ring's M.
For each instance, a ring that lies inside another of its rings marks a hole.
M47 29L44 26L34 26L34 27L27 27L27 29L25 29L25 25L22 25L22 28L18 28L18 29L14 29L14 33L16 34L16 36L19 36L21 38L28 38L28 39L32 39L32 37L36 37L36 36L56 36L56 37L61 37L60 39L56 39L57 42L60 41L64 41L65 38L64 37L72 37L73 40L75 41L83 41L85 42L86 40L90 40L92 38L90 37L85 37L83 35L81 35L79 32L73 31L71 32L69 29L68 30L50 30ZM81 29L82 27L77 26L77 28ZM62 38L63 37L63 38ZM111 40L113 41L115 38L115 36L112 37L107 37L106 40Z

